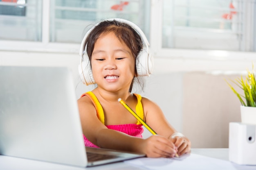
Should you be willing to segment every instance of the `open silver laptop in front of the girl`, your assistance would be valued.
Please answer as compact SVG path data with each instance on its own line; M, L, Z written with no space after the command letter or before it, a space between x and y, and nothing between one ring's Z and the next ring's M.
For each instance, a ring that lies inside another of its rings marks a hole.
M73 82L67 68L0 66L0 155L80 167L143 157L84 146Z

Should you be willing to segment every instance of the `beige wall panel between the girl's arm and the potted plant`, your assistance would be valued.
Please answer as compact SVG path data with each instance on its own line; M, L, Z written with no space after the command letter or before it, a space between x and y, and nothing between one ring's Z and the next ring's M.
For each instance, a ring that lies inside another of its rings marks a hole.
M193 148L228 148L229 122L241 121L240 101L225 82L235 78L240 75L184 74L182 130Z

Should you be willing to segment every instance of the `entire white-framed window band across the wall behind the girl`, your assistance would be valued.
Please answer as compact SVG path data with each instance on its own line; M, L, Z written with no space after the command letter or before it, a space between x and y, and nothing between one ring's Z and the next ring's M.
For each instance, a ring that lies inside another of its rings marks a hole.
M154 56L255 52L255 16L256 0L0 0L0 49L77 52L93 24L119 17L144 31Z

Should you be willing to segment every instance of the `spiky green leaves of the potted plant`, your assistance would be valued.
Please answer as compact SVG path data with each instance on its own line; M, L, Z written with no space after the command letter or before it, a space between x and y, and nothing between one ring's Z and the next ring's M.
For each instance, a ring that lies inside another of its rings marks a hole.
M225 81L227 82L227 80ZM243 79L243 76L241 76L241 78L236 79L235 81L232 81L232 82L238 85L238 87L240 87L244 91L245 96L238 94L238 92L233 88L233 86L231 86L227 82L229 87L239 98L241 104L243 106L256 107L256 80L254 76L254 65L252 65L252 72L247 70L247 75L245 80ZM243 98L246 100L246 103L244 102Z

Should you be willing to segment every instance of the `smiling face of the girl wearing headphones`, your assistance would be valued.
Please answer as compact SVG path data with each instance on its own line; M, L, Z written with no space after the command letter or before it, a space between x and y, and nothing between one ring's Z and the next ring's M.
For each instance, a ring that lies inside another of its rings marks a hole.
M135 76L135 59L131 50L114 33L101 35L92 52L92 75L98 88L110 92L130 88Z

